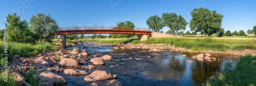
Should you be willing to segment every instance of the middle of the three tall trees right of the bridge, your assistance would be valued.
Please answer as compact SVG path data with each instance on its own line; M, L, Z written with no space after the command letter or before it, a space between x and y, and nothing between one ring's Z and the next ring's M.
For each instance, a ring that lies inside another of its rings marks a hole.
M177 16L176 13L163 13L162 20L163 24L173 31L173 34L178 33L179 30L185 30L188 24L182 15Z

